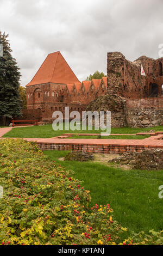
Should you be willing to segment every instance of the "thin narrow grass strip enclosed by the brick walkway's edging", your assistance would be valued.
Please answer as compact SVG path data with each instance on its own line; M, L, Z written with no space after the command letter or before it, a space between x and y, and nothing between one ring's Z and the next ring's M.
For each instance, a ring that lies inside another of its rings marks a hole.
M77 136L67 137L67 139L145 139L149 135L110 135L110 136Z

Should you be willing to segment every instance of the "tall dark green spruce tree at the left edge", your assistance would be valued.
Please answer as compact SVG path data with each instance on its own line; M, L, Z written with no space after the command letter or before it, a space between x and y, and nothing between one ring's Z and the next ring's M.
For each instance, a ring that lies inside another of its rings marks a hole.
M12 118L22 115L20 86L20 68L12 58L8 34L0 31L0 44L3 45L3 57L0 57L0 123L8 125Z

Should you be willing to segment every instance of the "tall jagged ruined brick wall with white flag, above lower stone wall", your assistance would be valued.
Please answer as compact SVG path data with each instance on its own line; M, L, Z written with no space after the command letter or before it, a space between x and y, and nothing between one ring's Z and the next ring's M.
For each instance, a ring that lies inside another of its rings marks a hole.
M146 76L141 75L141 64ZM121 52L109 52L107 65L108 92L112 90L127 99L160 96L163 84L162 66L163 58L155 60L142 56L134 62L130 62ZM157 90L155 90L155 86L158 87Z

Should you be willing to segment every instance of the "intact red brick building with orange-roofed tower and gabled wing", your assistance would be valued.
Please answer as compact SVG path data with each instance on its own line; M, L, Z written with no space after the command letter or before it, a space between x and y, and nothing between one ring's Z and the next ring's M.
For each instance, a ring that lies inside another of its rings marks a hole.
M39 109L40 121L52 121L54 111L68 106L82 112L87 104L107 91L107 79L80 82L60 52L48 54L27 84L27 109ZM34 117L34 116L33 116Z

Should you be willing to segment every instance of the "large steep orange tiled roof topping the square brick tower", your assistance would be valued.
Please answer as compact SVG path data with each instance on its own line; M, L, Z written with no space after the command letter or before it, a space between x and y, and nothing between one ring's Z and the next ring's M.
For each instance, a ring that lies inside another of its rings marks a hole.
M49 82L61 84L80 82L60 52L48 54L27 86Z

